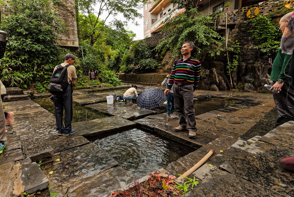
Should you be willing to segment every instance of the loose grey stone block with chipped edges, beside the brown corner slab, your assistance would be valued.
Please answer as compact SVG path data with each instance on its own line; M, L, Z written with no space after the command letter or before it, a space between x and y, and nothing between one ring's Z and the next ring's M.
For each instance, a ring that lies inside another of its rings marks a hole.
M36 162L21 166L21 181L26 193L35 193L49 186L49 180Z

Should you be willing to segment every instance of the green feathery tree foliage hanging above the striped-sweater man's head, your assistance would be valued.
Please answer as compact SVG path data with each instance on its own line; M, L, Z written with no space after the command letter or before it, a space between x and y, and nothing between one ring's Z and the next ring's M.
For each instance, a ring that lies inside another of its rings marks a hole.
M225 37L214 30L212 16L203 15L193 8L171 19L168 18L163 21L165 24L160 31L170 31L170 33L155 48L161 55L164 55L167 50L171 50L174 55L180 55L181 46L186 41L195 43L193 53L197 57L213 57L225 50L223 46Z

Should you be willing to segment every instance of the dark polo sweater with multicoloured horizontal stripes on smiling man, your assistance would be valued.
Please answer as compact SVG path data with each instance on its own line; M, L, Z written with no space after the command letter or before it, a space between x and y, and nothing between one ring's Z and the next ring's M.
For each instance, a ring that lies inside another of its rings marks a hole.
M200 79L201 63L199 60L188 58L183 60L183 58L176 60L173 63L173 71L169 77L167 89L171 89L173 83L187 83L193 84L197 87Z

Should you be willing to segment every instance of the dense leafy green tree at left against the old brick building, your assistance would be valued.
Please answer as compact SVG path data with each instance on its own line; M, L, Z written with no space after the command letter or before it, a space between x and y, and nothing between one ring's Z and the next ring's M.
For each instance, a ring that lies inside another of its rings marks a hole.
M0 60L2 81L9 86L26 87L35 81L48 82L62 49L57 33L64 23L49 0L0 1L1 29L8 33L8 50Z

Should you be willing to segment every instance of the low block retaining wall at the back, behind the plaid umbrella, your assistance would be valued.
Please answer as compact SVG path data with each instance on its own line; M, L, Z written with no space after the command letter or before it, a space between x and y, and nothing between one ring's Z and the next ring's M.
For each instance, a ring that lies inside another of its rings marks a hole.
M153 74L120 74L119 79L125 82L139 82L139 83L147 83L150 84L152 80ZM154 75L152 84L161 84L164 78L166 78L166 73L156 73Z

